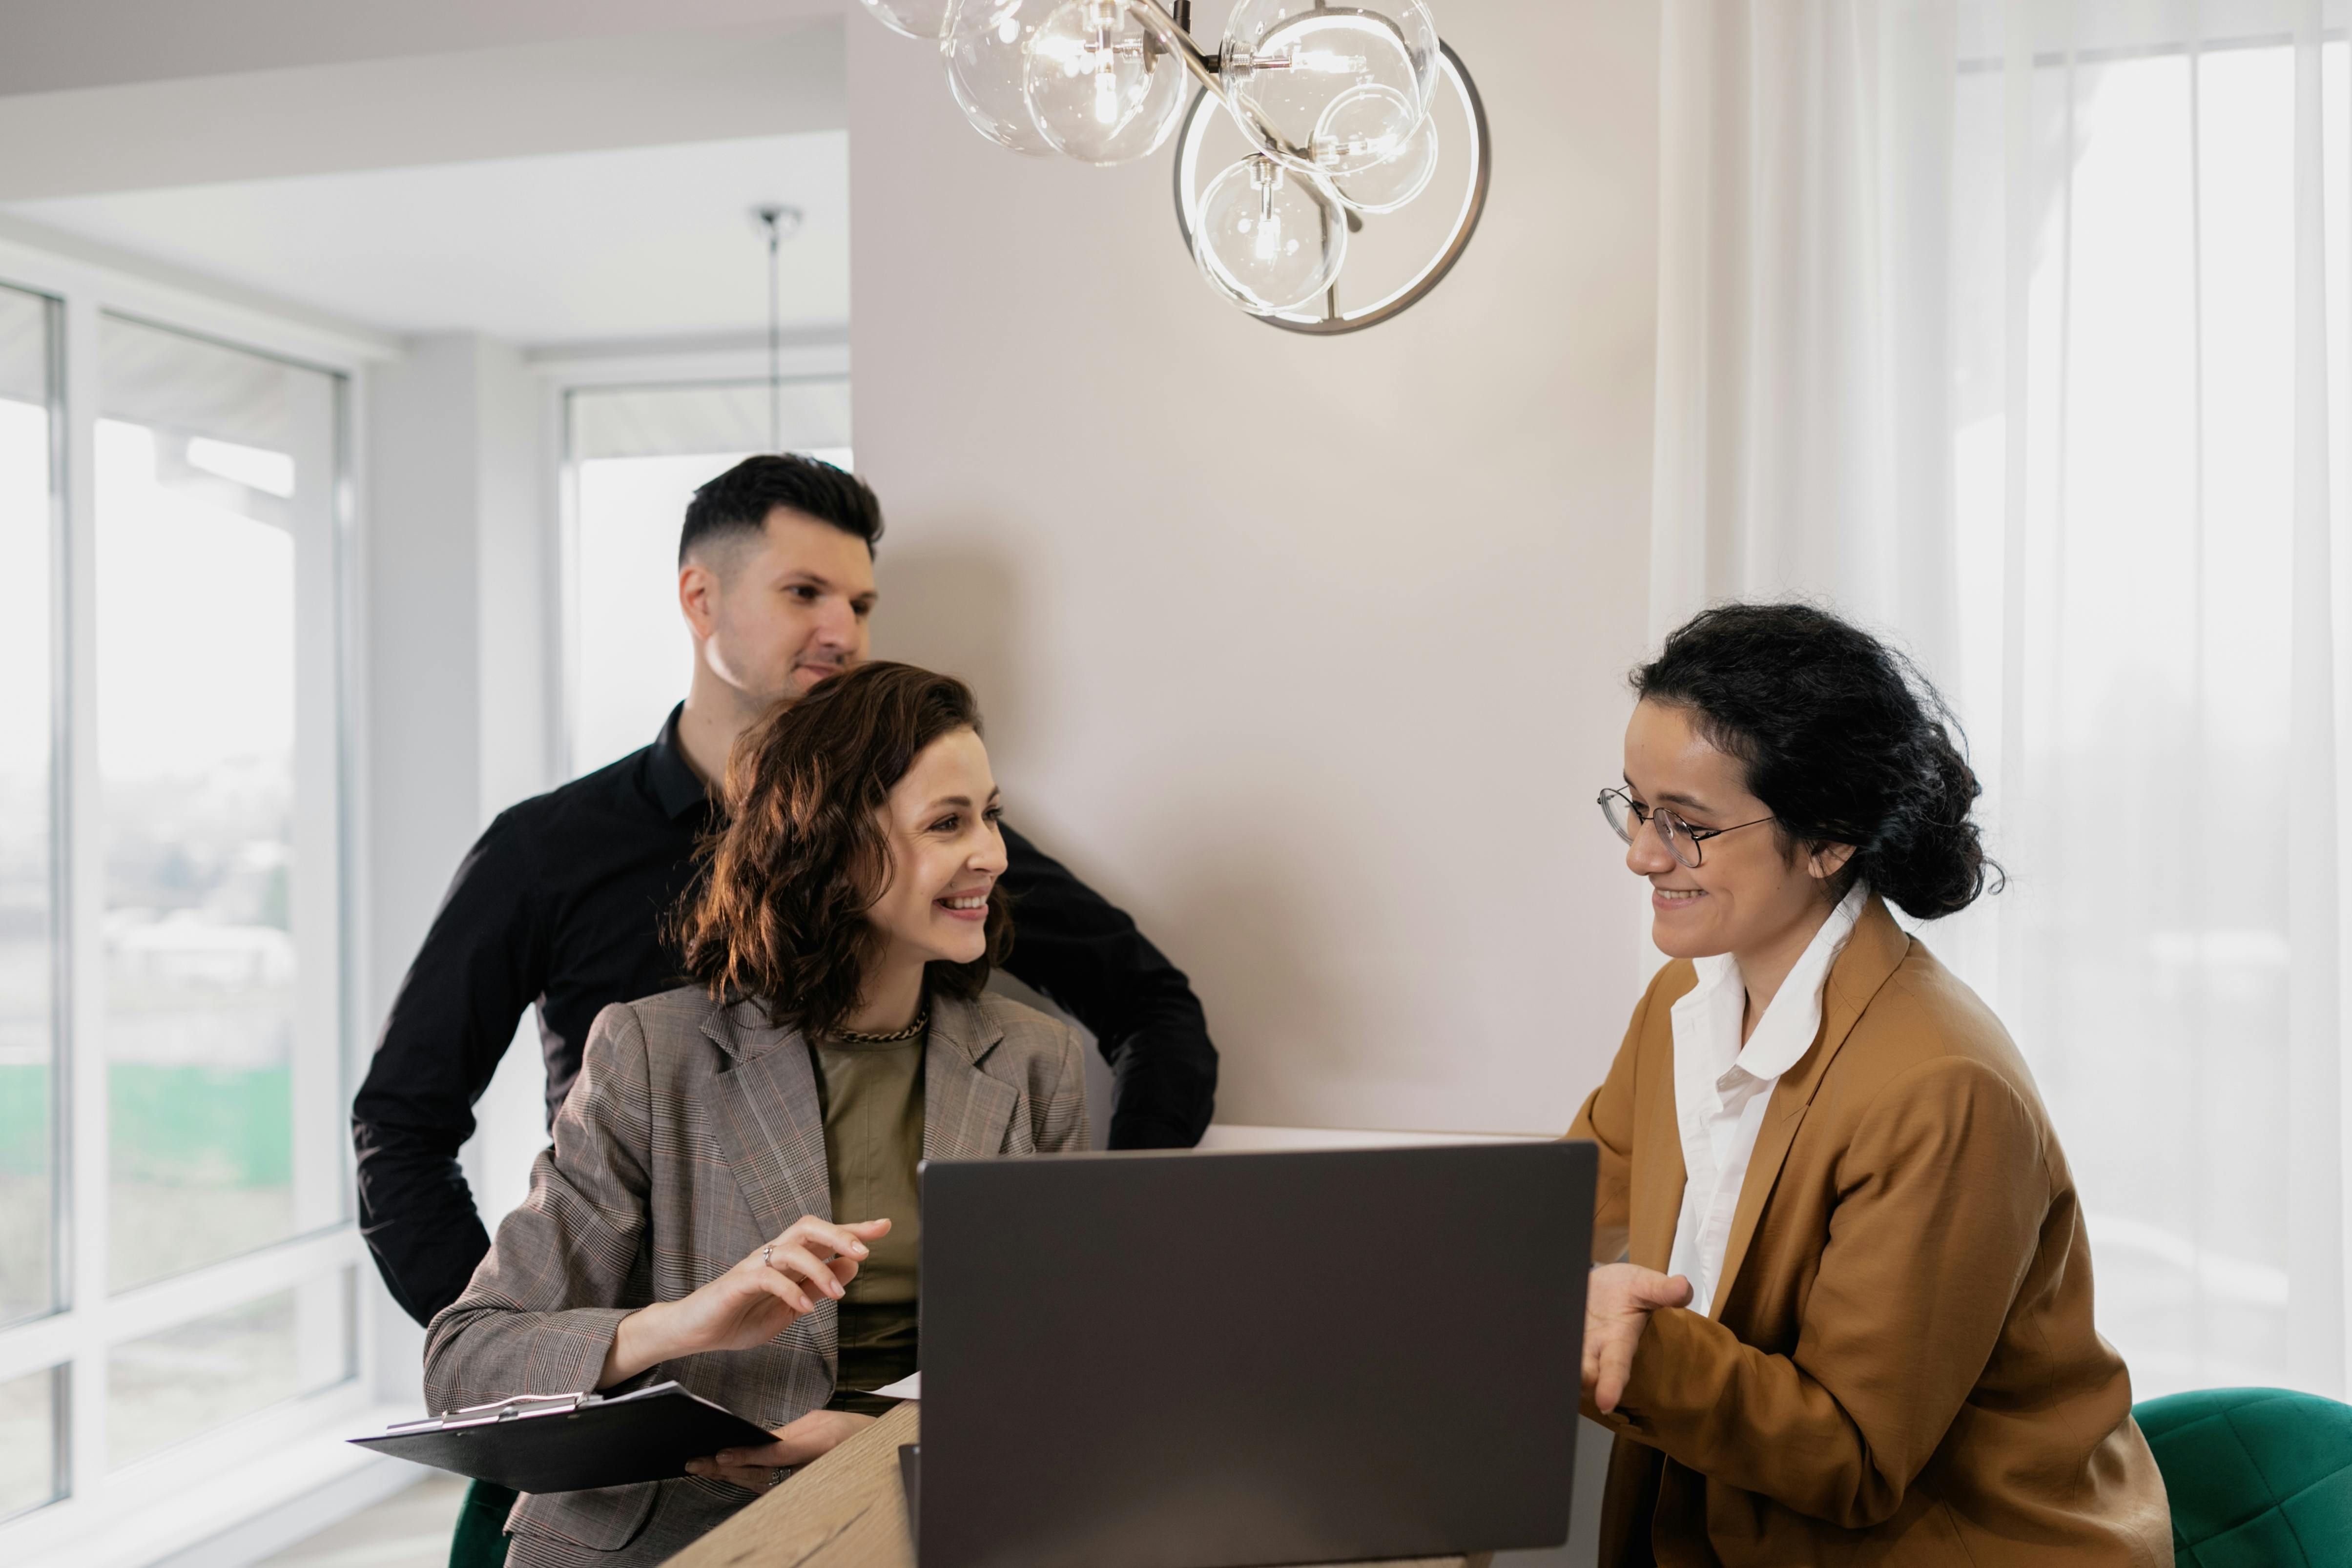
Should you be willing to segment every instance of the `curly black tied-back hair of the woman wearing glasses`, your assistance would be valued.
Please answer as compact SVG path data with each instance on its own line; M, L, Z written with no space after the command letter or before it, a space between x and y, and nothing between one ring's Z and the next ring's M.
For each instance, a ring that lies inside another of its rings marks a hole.
M1919 919L2002 889L1971 816L1983 788L1952 710L1870 632L1811 604L1717 604L1684 621L1632 689L1684 708L1748 769L1780 851L1851 844L1832 879Z

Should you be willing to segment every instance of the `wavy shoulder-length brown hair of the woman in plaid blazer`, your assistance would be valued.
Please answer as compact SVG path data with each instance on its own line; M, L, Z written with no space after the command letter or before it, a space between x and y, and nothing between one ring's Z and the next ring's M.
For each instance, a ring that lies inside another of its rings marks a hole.
M866 910L889 884L882 806L941 736L978 733L953 675L866 663L781 703L727 757L727 823L703 839L703 875L680 910L687 976L717 1001L757 1001L769 1023L823 1034L856 1004L877 957ZM978 997L1011 950L1004 884L988 893L988 950L934 961L934 994Z

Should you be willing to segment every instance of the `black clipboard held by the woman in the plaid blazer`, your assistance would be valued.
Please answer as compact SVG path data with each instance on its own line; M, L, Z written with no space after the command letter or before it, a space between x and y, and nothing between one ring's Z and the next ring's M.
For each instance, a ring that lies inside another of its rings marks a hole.
M675 1382L656 1382L612 1396L524 1394L350 1441L517 1493L579 1493L668 1481L687 1474L687 1460L776 1439Z

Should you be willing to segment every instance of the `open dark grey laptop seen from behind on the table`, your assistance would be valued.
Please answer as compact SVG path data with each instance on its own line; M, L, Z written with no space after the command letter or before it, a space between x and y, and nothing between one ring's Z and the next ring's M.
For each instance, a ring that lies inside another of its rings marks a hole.
M1595 1150L922 1168L922 1568L1557 1547Z

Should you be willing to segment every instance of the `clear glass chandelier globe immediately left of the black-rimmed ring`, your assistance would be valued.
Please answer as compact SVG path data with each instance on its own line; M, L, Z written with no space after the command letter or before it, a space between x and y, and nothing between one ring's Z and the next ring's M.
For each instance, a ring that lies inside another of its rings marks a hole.
M1134 162L1183 118L1183 61L1127 0L1068 0L1023 45L1021 78L1037 132L1080 162Z

